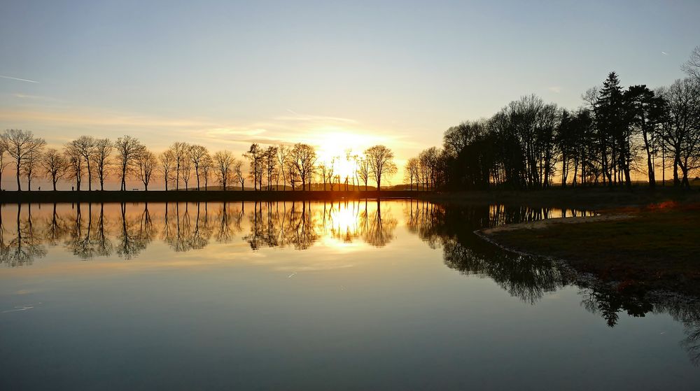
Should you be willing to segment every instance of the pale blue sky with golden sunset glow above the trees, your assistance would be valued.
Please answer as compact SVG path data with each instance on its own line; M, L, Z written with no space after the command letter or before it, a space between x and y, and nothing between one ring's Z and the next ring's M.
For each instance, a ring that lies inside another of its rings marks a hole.
M402 165L526 94L577 108L610 71L671 84L698 15L697 0L0 0L0 129L156 152L383 143Z

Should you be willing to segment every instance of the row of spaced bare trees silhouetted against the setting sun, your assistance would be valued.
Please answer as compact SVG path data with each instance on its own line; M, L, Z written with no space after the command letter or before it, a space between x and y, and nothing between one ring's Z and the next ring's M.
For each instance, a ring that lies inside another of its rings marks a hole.
M381 180L396 172L394 154L384 145L367 148L362 155L346 153L353 163L352 173L346 173L345 190L364 186L367 190L372 180L377 190ZM318 162L316 149L309 144L269 145L253 143L236 157L230 150L210 152L203 145L176 141L167 150L156 155L138 138L123 136L109 138L80 136L66 143L61 150L47 148L43 138L31 131L7 129L0 135L0 178L3 171L11 169L17 180L18 191L22 183L27 190L38 178L50 180L52 189L57 183L71 183L73 190L104 190L109 178L116 178L120 190L127 190L127 180L137 179L148 191L153 180L162 180L165 190L209 190L215 181L222 190L245 190L246 180L253 183L253 190L311 190L311 183L318 180L323 190L330 185L341 185L341 176L335 173L337 160Z

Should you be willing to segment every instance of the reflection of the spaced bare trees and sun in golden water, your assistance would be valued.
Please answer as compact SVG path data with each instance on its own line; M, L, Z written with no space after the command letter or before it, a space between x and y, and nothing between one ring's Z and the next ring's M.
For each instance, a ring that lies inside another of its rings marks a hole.
M323 237L381 247L392 241L397 224L391 213L382 216L378 200L21 204L3 206L0 213L1 260L8 266L31 264L46 255L47 246L63 246L83 260L111 255L130 260L156 239L176 252L240 239L253 250L304 250Z

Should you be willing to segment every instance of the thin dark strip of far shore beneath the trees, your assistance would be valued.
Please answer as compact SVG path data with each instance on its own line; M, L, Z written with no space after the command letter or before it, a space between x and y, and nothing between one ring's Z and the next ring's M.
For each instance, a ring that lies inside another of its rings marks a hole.
M673 187L552 187L546 190L43 190L0 192L0 204L73 202L196 202L196 201L328 201L338 199L420 199L440 204L504 204L543 208L578 208L601 211L645 206L663 201L697 201L700 192Z

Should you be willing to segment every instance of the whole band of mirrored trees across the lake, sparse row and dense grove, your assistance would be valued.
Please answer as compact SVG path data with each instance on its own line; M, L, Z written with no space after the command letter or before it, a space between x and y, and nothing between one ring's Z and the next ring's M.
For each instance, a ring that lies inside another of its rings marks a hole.
M252 250L306 250L317 243L342 249L393 243L405 226L444 264L465 275L490 278L526 304L561 287L580 288L581 303L615 327L620 314L669 313L685 327L682 342L700 362L700 304L676 297L626 294L541 257L504 251L474 234L513 222L587 215L581 211L510 206L442 206L426 201L42 204L5 205L0 213L0 262L27 266L48 248L64 248L81 260L138 257L154 241L182 253L211 243L246 243Z

